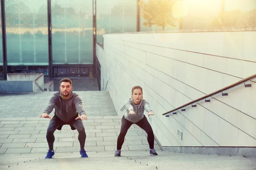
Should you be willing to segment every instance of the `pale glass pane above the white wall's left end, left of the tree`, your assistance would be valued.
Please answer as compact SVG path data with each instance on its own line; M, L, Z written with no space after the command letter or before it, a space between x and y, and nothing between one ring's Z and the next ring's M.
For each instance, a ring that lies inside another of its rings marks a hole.
M137 0L97 0L97 42L103 34L137 29Z

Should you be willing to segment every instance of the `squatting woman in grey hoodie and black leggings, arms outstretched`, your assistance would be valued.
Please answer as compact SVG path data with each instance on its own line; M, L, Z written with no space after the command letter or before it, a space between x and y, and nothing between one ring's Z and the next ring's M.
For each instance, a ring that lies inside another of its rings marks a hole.
M125 141L125 135L134 123L141 127L148 134L148 144L150 148L150 155L157 155L154 150L154 133L148 119L144 115L144 111L148 112L148 116L154 115L149 108L149 104L143 99L143 92L140 86L134 86L131 89L131 99L125 102L126 112L122 117L122 124L119 136L117 138L117 147L115 156L121 156L122 144Z

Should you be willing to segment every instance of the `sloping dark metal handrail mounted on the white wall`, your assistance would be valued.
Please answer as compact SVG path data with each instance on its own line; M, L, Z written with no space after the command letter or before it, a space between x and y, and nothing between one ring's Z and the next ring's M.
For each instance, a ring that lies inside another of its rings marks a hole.
M207 94L206 96L203 96L203 97L200 97L200 98L198 98L198 99L195 99L195 100L193 100L192 102L188 102L188 103L186 103L185 105L182 105L182 106L180 106L180 107L178 107L178 108L172 109L172 111L168 111L168 112L166 112L166 113L163 113L163 115L166 115L166 114L171 113L171 112L173 112L173 111L177 111L177 110L179 110L180 108L184 108L184 107L186 107L186 106L188 106L188 105L192 105L192 104L195 103L195 102L201 101L201 100L206 99L206 98L208 98L208 97L210 97L210 96L214 96L214 95L216 95L216 94L219 94L219 93L221 93L221 92L223 92L223 91L226 91L226 90L228 90L228 89L230 89L230 88L234 88L234 87L236 87L236 86L238 86L238 85L241 85L241 84L243 84L243 83L245 83L245 82L248 82L248 81L250 81L250 80L252 80L252 79L255 79L255 78L256 78L256 74L253 74L252 76L247 77L247 78L245 78L245 79L242 79L242 80L240 80L239 82L233 83L232 85L229 85L229 86L227 86L227 87L221 88L220 90L215 91L215 92L212 92L211 94Z

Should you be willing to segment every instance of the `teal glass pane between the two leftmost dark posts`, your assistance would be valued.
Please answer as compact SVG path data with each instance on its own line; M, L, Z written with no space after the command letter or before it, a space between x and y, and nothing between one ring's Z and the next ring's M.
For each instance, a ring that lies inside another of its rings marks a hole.
M48 65L47 0L5 0L8 65Z

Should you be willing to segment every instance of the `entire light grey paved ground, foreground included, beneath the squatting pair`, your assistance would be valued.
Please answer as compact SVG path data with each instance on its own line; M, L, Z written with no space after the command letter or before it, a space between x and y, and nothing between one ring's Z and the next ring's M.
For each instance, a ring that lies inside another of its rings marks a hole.
M132 125L125 136L121 157L114 157L121 118L108 92L79 91L88 120L85 150L79 155L76 130L65 125L55 131L55 156L44 159L49 119L39 118L55 92L5 94L0 97L0 170L256 170L256 158L164 152L149 156L147 134ZM52 115L52 114L51 114Z

